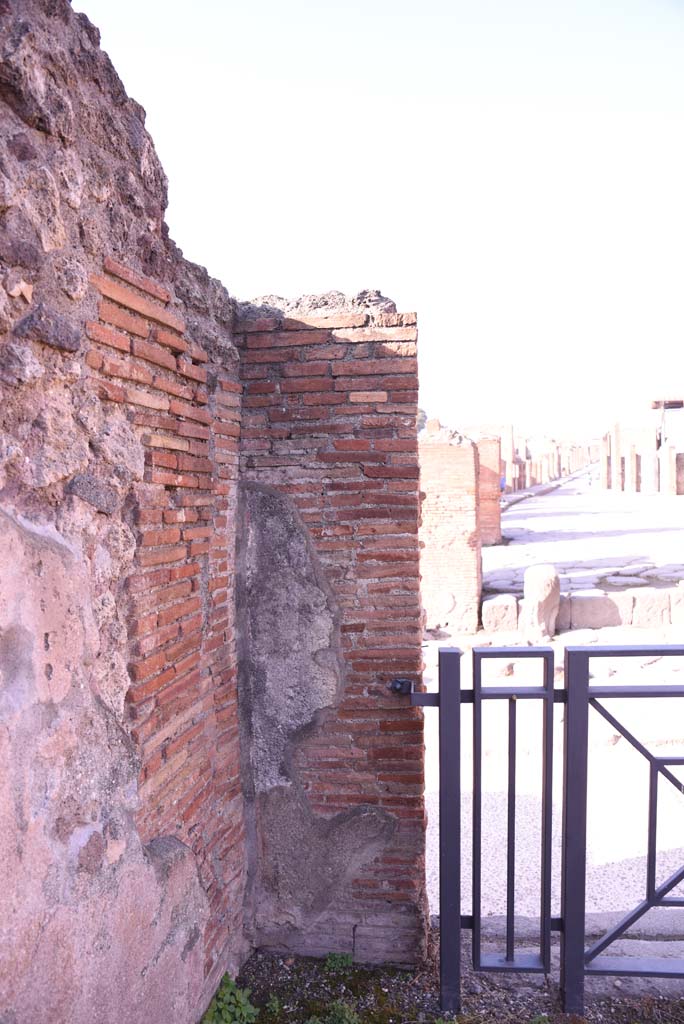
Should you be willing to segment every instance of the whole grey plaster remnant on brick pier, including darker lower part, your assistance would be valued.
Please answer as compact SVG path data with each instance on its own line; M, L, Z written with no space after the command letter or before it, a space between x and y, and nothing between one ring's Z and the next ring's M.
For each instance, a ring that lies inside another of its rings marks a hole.
M311 810L295 755L342 696L339 613L308 531L287 498L243 483L239 518L247 926L258 945L312 951L316 922L382 852L397 822L365 805L332 817ZM352 948L356 923L353 914L338 921L341 947Z

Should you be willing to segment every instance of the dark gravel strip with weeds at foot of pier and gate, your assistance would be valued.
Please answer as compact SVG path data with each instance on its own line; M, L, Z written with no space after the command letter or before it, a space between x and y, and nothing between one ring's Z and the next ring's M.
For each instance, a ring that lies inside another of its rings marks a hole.
M331 970L326 961L257 952L238 982L252 990L252 1001L260 1008L258 1024L306 1024L312 1016L325 1018L336 1000L353 1010L359 1024L433 1024L440 1019L461 1024L684 1024L684 999L625 994L612 979L607 980L611 989L604 981L600 991L588 995L585 1017L566 1015L560 1012L555 981L540 975L475 975L465 955L463 1012L458 1017L441 1014L437 965L433 933L428 958L415 972L356 965Z

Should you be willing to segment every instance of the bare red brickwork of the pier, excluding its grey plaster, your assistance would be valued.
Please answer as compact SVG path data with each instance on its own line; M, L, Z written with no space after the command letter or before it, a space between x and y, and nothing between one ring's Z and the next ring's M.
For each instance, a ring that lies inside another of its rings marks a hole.
M253 315L238 327L241 477L294 504L340 620L339 703L293 739L293 776L318 833L364 809L392 822L288 944L413 963L424 942L423 723L387 683L422 670L416 316Z

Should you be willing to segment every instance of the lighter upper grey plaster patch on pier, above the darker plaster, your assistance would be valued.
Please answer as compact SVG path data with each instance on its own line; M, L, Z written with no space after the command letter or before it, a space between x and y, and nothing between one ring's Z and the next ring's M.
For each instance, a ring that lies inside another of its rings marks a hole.
M290 738L337 702L344 669L338 611L296 510L251 483L241 506L241 702L263 793L290 784Z

